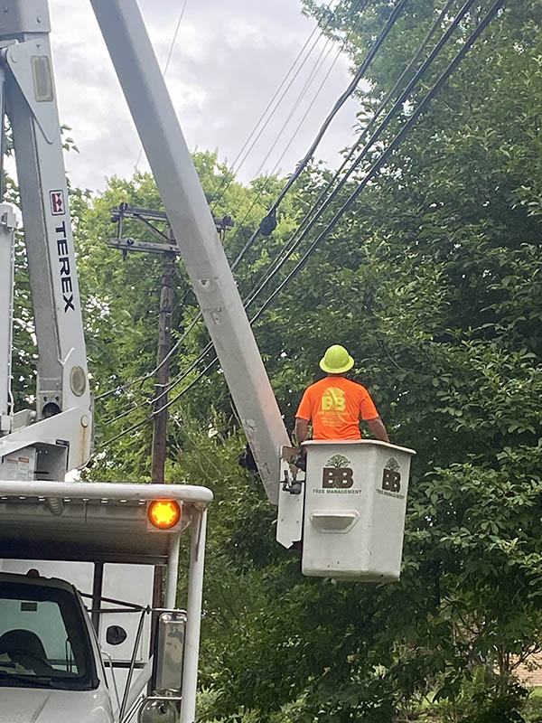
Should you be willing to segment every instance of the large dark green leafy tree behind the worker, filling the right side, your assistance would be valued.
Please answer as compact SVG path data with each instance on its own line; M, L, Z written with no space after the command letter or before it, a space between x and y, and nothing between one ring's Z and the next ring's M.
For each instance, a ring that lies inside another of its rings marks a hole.
M443 6L409 5L370 70L363 117ZM266 606L248 611L249 634L234 631L217 666L222 709L267 720L304 697L299 720L391 720L428 690L457 696L480 664L496 666L487 694L499 699L513 655L540 644L541 9L514 5L491 24L257 325L264 350L279 352L268 368L288 422L322 349L344 343L392 439L418 456L400 584L302 580L294 562L269 560ZM348 13L341 4L330 32L349 29ZM354 60L388 13L366 5ZM313 187L326 177L313 173ZM342 615L330 620L330 609Z

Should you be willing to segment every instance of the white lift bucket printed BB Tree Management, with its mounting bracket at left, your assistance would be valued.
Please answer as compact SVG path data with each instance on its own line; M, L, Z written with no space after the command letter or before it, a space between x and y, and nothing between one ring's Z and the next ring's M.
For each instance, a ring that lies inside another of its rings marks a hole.
M281 486L277 539L282 544L296 535L303 540L304 575L397 580L410 459L416 452L373 440L305 442L304 447L301 493Z

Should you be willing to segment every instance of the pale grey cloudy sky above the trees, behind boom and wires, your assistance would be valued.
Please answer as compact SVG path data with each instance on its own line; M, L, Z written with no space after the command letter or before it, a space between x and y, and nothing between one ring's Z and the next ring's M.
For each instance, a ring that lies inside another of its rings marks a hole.
M164 68L184 0L139 5ZM136 163L147 169L145 155L89 2L50 0L50 6L61 122L72 128L80 151L66 155L67 169L76 185L103 189L107 176L130 176ZM186 0L166 81L192 149L217 149L221 160L234 161L313 32L315 23L300 10L300 0ZM350 81L339 50L313 34L295 66L303 67L240 165L241 180L293 170ZM353 138L356 109L355 101L347 103L322 141L317 155L331 165Z

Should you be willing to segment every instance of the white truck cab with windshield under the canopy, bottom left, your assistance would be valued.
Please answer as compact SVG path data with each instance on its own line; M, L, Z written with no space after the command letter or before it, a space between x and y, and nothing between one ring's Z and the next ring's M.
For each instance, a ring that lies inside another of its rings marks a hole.
M10 723L114 719L97 637L69 582L0 573L0 701Z

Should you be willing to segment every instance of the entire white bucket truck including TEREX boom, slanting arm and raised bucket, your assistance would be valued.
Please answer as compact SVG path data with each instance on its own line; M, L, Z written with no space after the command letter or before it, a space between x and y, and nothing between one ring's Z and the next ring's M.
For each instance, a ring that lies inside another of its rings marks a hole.
M399 574L412 450L290 445L135 0L90 0L151 164L269 501L303 571ZM193 723L206 511L187 484L66 482L87 464L92 404L47 0L0 8L0 99L13 130L38 347L35 409L10 393L14 211L0 207L0 723ZM4 118L3 118L4 120ZM4 127L4 123L2 124ZM186 609L175 607L191 534ZM167 572L164 594L155 570ZM152 654L154 653L154 654Z

